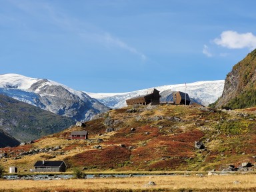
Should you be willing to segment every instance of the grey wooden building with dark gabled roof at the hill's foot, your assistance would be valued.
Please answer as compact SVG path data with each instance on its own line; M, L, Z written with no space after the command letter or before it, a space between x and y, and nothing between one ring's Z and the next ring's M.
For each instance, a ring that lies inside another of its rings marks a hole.
M65 172L67 165L64 161L37 161L35 172Z

